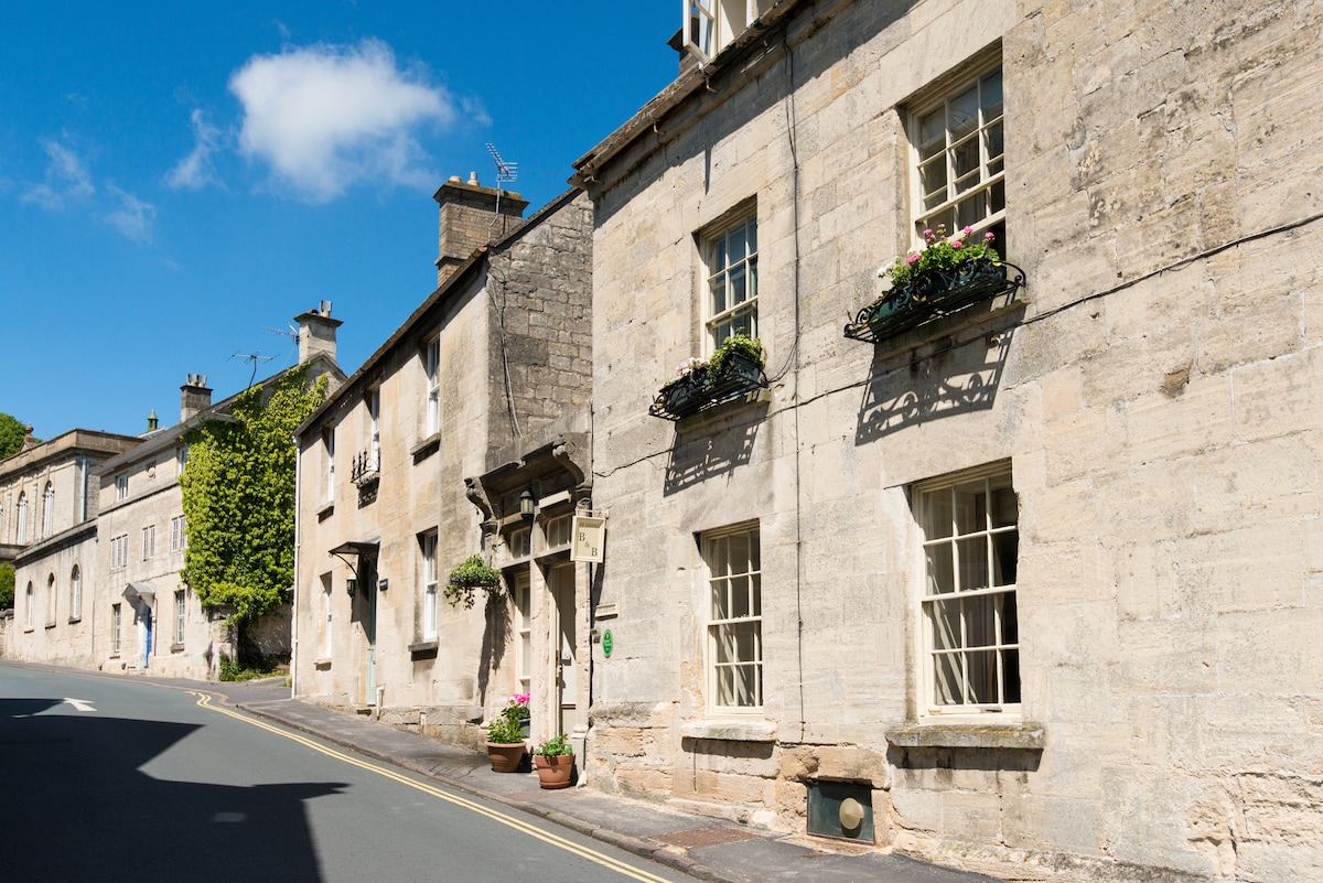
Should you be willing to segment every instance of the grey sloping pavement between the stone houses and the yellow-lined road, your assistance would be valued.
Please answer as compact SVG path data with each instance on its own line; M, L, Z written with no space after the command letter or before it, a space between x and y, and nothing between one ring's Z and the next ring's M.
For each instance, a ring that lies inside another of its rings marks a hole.
M492 772L486 752L311 702L294 699L283 678L214 683L135 678L216 694L225 705L355 753L496 801L716 883L998 883L848 842L777 834L663 804L574 787L542 790L534 772Z

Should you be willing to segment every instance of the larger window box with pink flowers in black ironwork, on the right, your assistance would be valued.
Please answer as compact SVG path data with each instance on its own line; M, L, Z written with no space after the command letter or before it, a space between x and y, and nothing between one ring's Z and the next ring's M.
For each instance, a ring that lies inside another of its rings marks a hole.
M897 258L877 275L889 289L859 311L845 337L876 344L934 319L950 316L998 295L1024 287L1024 271L1000 259L994 234L982 241L971 227L947 235L945 225L923 231L923 247Z

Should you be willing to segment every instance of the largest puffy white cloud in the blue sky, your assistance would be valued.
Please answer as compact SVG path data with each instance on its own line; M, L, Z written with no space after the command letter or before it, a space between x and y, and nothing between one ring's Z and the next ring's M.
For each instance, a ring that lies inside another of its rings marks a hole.
M314 202L360 181L429 188L435 173L413 130L455 119L455 103L422 71L401 70L377 40L254 56L230 78L243 104L239 148Z

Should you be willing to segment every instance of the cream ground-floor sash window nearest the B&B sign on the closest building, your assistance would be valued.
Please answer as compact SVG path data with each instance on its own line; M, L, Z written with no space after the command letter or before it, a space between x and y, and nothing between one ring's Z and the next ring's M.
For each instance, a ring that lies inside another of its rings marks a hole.
M737 541L744 543L742 560L736 558ZM751 523L704 533L703 560L708 570L704 592L708 711L720 715L761 714L765 668L759 526ZM744 601L740 600L741 592L745 594ZM724 604L725 609L718 604ZM745 632L749 641L744 649L737 644L740 632ZM738 669L753 670L751 685L741 687L737 679L726 679L726 672Z

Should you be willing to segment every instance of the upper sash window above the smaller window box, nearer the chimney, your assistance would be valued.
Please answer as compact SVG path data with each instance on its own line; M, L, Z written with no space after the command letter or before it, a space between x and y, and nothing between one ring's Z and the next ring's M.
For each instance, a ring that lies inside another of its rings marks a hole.
M713 227L701 241L705 352L710 354L730 334L758 336L757 209Z

